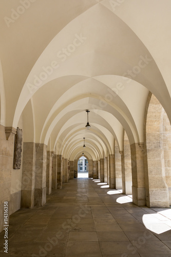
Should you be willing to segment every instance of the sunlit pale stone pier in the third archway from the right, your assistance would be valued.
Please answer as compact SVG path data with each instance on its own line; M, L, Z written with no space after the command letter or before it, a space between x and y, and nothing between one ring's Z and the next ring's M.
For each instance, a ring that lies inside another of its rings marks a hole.
M122 189L122 166L121 154L118 145L115 143L115 169L116 169L116 189Z

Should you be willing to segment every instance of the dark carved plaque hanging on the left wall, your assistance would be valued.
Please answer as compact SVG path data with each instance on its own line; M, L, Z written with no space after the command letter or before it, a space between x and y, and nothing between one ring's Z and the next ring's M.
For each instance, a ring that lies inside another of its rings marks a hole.
M21 158L22 158L22 130L17 127L15 142L14 142L14 161L13 169L20 169L21 167Z

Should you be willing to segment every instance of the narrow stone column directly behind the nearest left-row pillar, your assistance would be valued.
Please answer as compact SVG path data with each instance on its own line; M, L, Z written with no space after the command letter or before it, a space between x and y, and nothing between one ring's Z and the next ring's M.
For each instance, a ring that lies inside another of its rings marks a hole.
M53 152L47 151L46 161L46 194L49 195L52 192L52 158Z

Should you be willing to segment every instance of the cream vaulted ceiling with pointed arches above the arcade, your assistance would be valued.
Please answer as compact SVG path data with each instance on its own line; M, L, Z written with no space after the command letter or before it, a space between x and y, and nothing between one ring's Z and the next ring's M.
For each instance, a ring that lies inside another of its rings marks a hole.
M171 120L170 0L1 0L1 124L96 160L143 142L149 91ZM89 109L90 130L86 130Z

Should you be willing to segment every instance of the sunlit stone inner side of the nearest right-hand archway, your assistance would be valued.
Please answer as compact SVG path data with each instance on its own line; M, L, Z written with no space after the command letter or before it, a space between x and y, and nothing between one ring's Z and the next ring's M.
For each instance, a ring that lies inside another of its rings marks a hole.
M164 160L167 152L165 150L164 156L164 148L168 143L169 136L163 144L163 124L165 124L165 128L168 127L168 122L166 124L166 120L163 121L163 118L162 105L154 95L149 93L144 122L144 169L146 205L148 207L169 207ZM166 132L165 128L164 131Z

